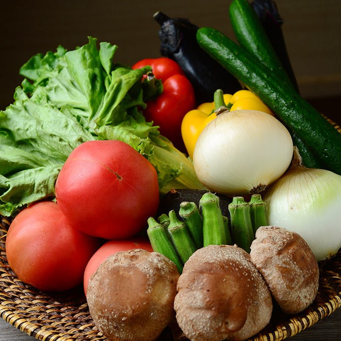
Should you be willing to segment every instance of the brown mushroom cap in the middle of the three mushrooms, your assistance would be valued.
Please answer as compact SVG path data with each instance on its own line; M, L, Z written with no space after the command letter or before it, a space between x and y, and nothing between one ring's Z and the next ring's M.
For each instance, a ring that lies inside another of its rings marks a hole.
M177 288L177 322L192 341L247 339L270 321L269 289L249 254L236 245L196 250Z

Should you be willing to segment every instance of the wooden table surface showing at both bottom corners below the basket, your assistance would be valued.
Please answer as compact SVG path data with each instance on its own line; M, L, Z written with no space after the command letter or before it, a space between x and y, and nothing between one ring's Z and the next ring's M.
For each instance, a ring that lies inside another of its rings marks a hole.
M341 309L319 321L303 332L290 337L292 341L337 341L341 336ZM24 334L19 329L0 319L0 341L34 341L36 338ZM208 340L209 341L209 340Z

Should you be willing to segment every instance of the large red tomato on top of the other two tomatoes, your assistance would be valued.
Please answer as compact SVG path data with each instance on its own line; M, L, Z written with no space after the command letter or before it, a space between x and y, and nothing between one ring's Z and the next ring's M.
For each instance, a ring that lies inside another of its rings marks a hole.
M79 145L61 169L55 195L75 228L104 239L133 236L159 205L154 166L117 140Z

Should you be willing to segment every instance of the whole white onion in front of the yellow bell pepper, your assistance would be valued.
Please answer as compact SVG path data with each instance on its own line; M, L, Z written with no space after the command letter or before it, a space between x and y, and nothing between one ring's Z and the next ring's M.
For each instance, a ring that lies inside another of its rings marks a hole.
M233 196L262 192L285 173L292 156L291 135L276 118L258 110L234 110L205 127L193 164L207 188Z

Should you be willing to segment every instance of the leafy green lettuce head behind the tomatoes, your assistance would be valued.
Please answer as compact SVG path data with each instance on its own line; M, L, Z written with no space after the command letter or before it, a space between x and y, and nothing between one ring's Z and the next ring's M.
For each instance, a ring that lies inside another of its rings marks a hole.
M71 151L92 139L119 139L156 168L161 194L200 188L191 161L146 122L141 77L113 63L116 45L89 43L33 56L14 103L0 111L0 214L54 197L54 183Z

